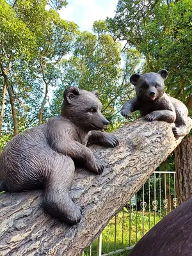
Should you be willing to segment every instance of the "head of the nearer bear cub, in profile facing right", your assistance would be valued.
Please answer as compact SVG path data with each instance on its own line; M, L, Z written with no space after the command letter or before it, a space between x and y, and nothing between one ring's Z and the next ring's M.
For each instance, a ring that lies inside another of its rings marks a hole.
M88 92L69 86L63 93L61 116L68 118L84 131L104 131L108 120L101 113L97 91Z

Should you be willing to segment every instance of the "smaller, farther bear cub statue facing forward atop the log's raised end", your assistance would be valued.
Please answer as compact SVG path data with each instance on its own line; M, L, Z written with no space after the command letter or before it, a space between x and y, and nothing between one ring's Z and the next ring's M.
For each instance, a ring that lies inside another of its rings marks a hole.
M131 117L132 112L140 110L145 120L162 120L168 123L175 122L172 128L175 136L188 134L188 108L180 101L168 96L164 92L164 80L168 77L165 69L157 73L147 73L141 76L133 74L130 82L136 89L136 97L128 100L123 108L122 115Z

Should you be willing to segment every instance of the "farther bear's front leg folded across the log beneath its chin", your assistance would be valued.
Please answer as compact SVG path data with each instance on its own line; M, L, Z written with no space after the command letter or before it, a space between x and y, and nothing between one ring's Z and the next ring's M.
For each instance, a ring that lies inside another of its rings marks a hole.
M145 120L152 122L154 120L161 120L168 123L175 122L176 114L174 111L170 110L157 110L149 113L145 116Z

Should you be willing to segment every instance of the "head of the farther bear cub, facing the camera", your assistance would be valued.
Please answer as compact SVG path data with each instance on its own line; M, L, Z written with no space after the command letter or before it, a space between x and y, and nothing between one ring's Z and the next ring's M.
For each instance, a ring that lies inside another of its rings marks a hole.
M144 101L154 101L163 96L164 80L168 77L165 69L159 70L157 73L133 74L130 82L134 84L136 95Z

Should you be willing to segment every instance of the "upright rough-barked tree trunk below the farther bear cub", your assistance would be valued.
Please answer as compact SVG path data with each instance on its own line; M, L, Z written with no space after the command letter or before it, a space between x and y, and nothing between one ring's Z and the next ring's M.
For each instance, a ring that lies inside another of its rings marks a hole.
M178 203L192 197L192 136L175 149L176 191Z

